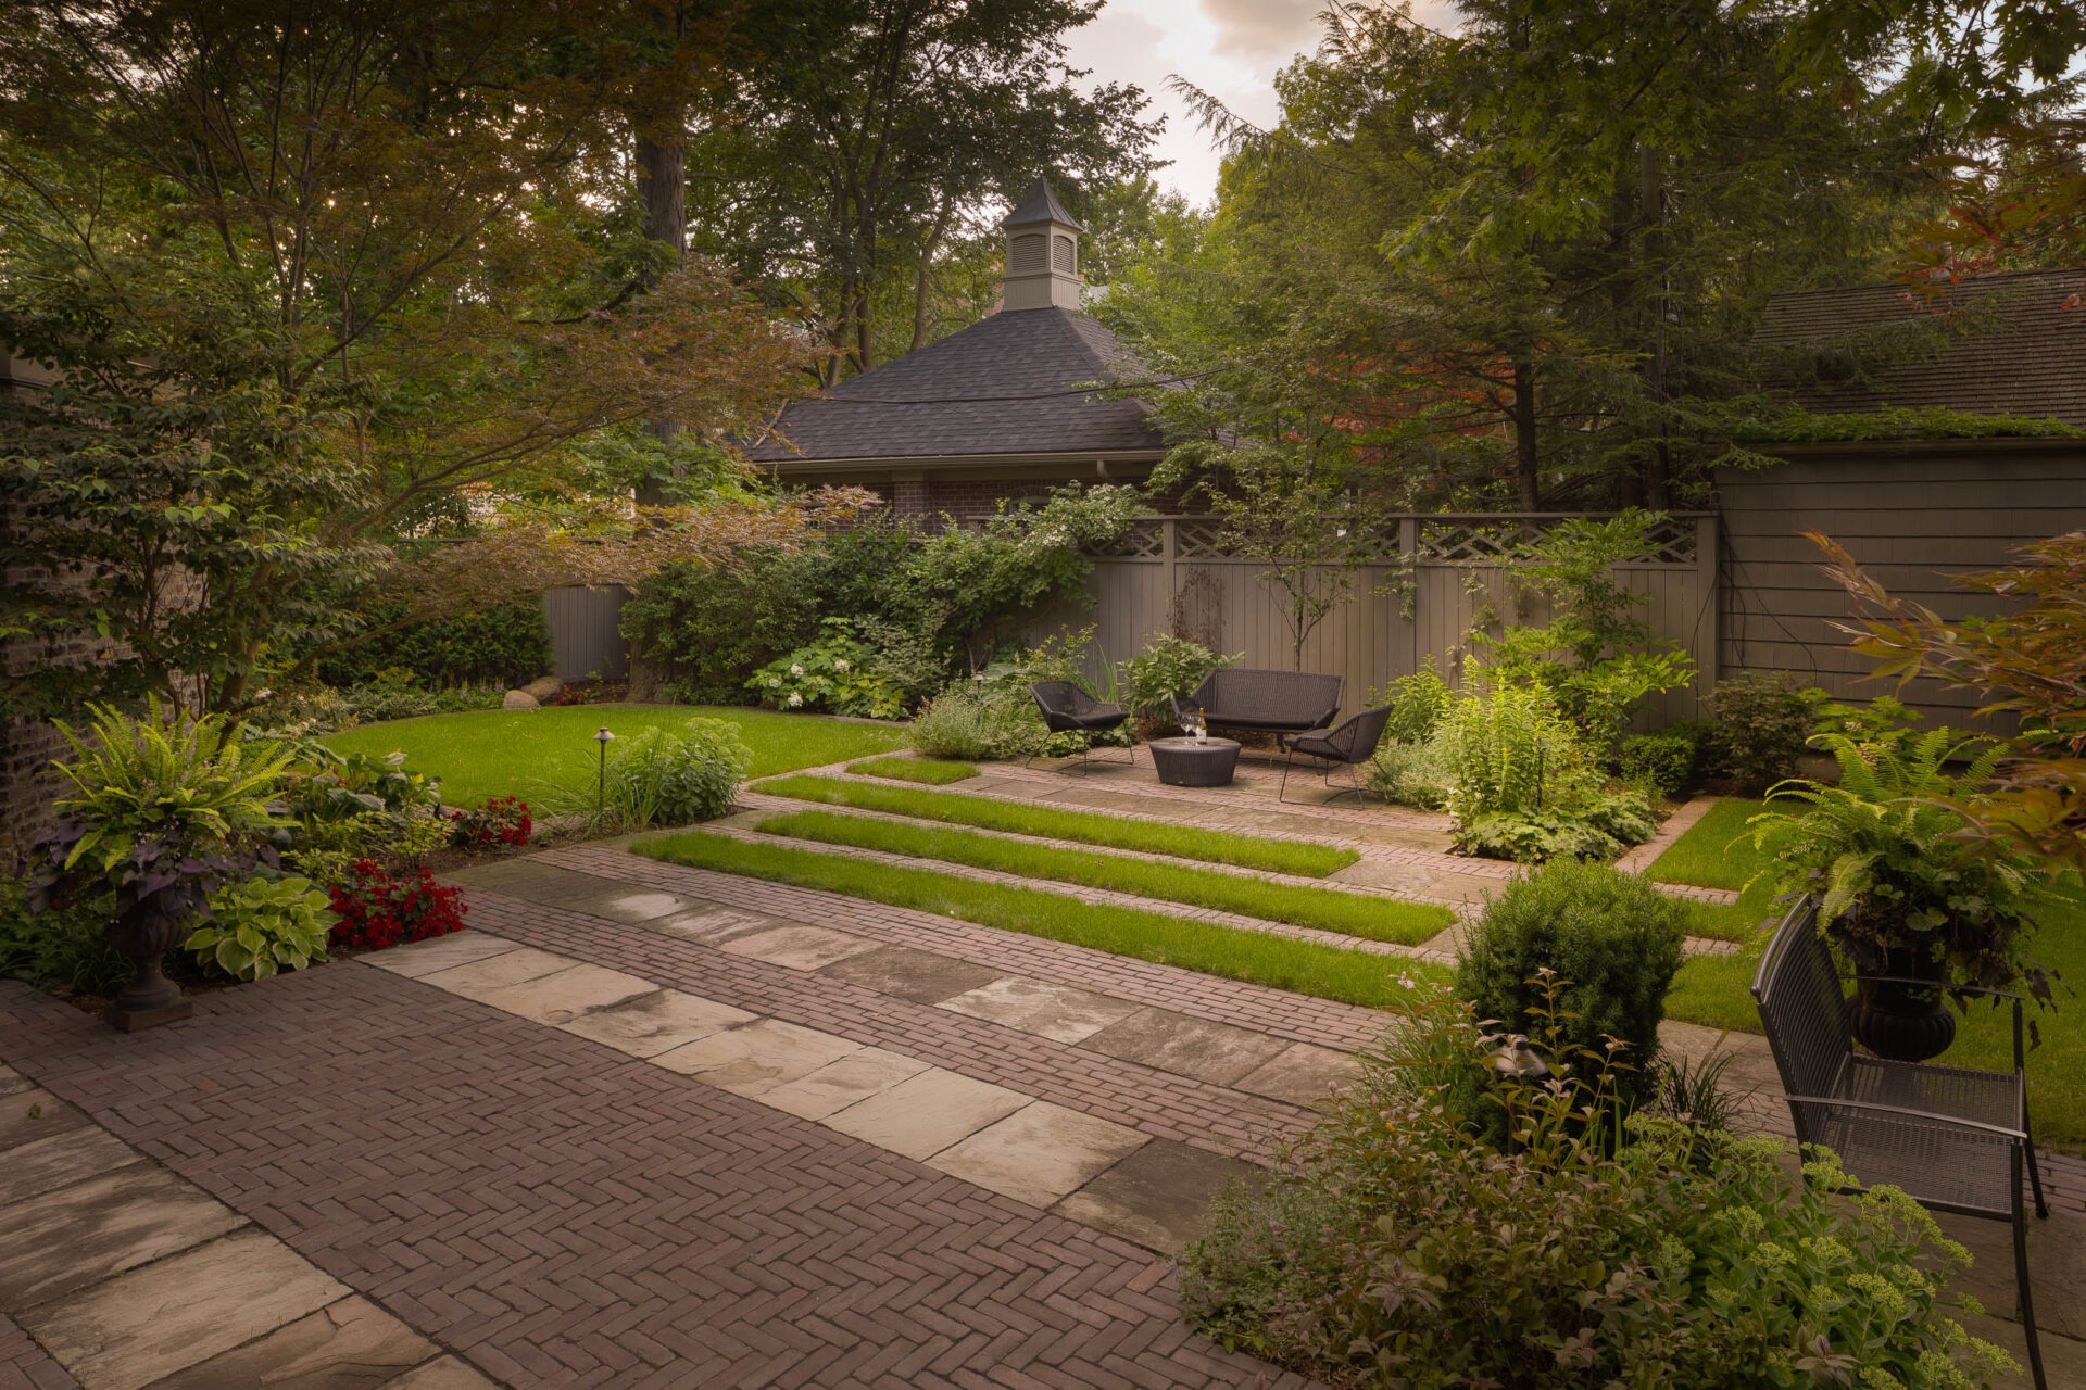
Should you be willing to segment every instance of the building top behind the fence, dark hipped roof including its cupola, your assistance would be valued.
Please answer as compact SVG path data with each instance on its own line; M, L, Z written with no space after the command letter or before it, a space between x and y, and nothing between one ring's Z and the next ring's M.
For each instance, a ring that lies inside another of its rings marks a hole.
M901 515L964 517L1151 473L1166 452L1151 406L1093 390L1145 373L1081 313L1083 227L1041 177L1001 227L997 313L793 402L747 456L786 486L870 488Z

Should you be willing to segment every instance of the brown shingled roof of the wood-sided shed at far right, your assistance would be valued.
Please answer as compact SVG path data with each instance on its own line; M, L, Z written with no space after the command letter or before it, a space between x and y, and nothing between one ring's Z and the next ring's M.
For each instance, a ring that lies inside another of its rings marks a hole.
M1982 275L1932 300L1896 283L1777 294L1754 346L1815 354L1809 371L1777 369L1806 411L2086 425L2086 269Z

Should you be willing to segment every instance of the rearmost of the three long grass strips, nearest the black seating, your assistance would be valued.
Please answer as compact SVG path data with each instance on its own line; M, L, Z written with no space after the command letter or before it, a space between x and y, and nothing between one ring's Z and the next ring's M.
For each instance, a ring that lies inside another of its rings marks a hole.
M1333 844L1312 844L1308 840L1268 840L1262 836L1239 836L1229 829L1162 825L1116 815L1095 815L1091 811L1033 806L1018 800L962 796L957 792L882 788L866 781L843 781L839 777L772 777L755 784L753 790L770 796L816 800L828 806L887 811L920 821L999 829L1041 840L1074 840L1078 844L1170 854L1174 859L1204 859L1218 865L1268 869L1270 873L1295 873L1300 877L1325 877L1360 859L1354 850Z

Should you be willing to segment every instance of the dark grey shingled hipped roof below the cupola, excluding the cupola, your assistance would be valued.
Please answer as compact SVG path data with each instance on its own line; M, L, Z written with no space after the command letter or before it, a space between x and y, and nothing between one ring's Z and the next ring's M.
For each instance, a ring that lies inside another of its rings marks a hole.
M918 352L795 400L755 463L1151 454L1166 442L1143 400L1070 390L1143 375L1116 336L1066 308L1001 311Z

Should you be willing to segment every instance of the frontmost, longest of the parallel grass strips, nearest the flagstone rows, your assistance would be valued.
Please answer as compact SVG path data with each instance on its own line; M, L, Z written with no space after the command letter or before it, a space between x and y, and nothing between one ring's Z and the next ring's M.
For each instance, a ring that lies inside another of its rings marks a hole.
M649 859L690 869L718 869L770 884L839 892L1364 1009L1402 1009L1410 994L1400 975L1416 982L1448 977L1441 967L1425 961L1320 946L1143 909L1099 907L1043 888L980 884L953 873L820 854L784 844L749 844L699 829L653 836L632 848ZM1166 1004L1164 998L1147 1002Z

